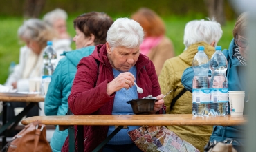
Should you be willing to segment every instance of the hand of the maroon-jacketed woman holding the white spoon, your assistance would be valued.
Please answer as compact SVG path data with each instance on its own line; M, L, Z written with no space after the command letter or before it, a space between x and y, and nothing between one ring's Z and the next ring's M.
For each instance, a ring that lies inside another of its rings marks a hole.
M115 79L107 84L107 94L111 95L122 88L131 88L134 86L135 77L130 72L120 73Z

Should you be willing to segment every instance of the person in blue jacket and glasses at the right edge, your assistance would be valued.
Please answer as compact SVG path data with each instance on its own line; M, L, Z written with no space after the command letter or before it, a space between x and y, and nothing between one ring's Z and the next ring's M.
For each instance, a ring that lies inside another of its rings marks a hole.
M248 41L246 36L246 28L248 23L248 12L242 13L235 23L233 29L233 39L230 43L228 50L223 50L223 54L228 61L228 90L229 91L245 91L245 101L248 100L249 90L246 65L248 60ZM194 71L192 67L187 68L183 72L181 77L181 83L190 92L192 92L192 79L194 77ZM246 107L246 102L245 105ZM244 114L246 111L244 111ZM233 140L232 144L237 151L244 151L243 134L244 126L214 126L210 141L224 141Z

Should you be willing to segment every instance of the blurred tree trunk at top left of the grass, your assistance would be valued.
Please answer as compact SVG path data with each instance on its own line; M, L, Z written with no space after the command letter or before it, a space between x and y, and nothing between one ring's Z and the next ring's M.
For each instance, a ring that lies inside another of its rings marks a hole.
M26 0L24 3L24 18L38 18L46 0Z

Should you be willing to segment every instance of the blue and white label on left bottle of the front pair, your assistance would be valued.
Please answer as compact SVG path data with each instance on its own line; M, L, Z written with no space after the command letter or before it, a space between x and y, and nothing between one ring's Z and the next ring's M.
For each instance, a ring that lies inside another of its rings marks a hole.
M209 104L210 103L210 89L201 88L192 90L192 102L196 104Z

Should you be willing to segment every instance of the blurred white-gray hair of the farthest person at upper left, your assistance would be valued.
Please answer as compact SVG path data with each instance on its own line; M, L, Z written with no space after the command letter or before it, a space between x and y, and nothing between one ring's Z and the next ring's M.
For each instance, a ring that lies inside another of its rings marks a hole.
M68 18L68 14L64 10L60 8L56 8L51 12L47 12L43 17L43 21L45 23L48 23L50 26L53 26L54 21L56 21L57 19L66 20L67 18Z

